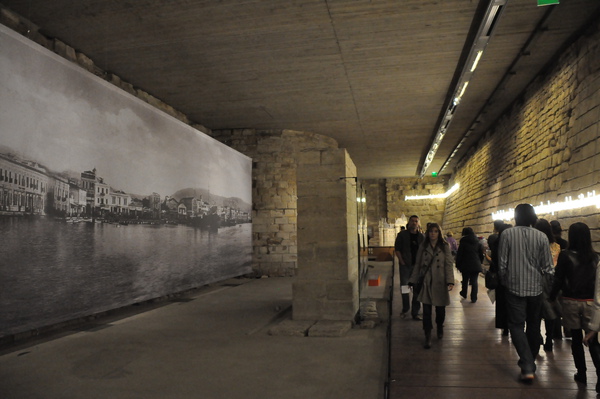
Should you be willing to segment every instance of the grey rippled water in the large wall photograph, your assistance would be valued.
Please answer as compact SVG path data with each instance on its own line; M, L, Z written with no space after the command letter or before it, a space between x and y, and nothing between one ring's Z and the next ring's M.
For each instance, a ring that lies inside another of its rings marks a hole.
M0 217L0 336L248 273L251 235Z

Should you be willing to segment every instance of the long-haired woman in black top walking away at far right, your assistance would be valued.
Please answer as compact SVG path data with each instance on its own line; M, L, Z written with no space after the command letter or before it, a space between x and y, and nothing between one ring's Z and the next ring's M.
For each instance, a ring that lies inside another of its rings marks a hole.
M569 227L569 247L558 255L556 275L550 299L556 300L562 290L563 325L571 331L571 354L577 373L575 381L587 383L587 367L583 350L583 333L590 333L596 326L590 325L593 318L595 281L600 256L592 248L590 228L585 223L574 223ZM587 340L590 356L600 380L600 344L598 340ZM599 392L600 382L596 384Z

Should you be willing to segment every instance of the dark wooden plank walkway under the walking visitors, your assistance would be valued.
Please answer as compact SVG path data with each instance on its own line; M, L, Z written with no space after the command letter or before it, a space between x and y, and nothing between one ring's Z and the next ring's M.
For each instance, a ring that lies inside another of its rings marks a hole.
M450 294L452 304L446 308L444 337L438 340L434 327L433 345L426 350L422 322L399 317L402 306L396 273L390 399L596 398L595 368L587 348L588 385L583 386L573 380L571 342L564 338L554 341L553 352L540 349L536 379L532 384L519 382L517 353L511 339L494 328L494 305L487 296L483 279L479 279L479 297L475 304L459 296L458 273L456 280L457 285Z

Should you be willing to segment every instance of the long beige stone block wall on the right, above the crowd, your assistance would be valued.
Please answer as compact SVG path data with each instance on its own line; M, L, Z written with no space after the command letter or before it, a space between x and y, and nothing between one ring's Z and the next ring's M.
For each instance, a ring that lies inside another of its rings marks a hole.
M564 51L460 163L453 182L461 188L446 203L446 228L489 234L498 209L600 194L599 27ZM563 228L587 223L598 248L598 208L538 216Z

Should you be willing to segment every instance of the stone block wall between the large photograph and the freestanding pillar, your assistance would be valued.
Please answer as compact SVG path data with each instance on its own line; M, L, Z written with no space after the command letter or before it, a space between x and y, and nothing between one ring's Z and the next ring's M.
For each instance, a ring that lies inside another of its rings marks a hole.
M252 169L253 269L259 275L293 276L297 268L298 157L335 149L329 137L292 130L214 130L213 138L249 156Z

